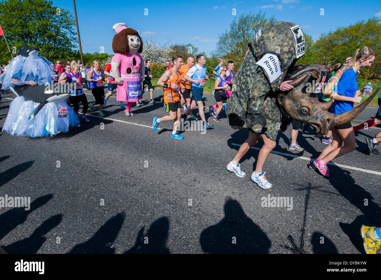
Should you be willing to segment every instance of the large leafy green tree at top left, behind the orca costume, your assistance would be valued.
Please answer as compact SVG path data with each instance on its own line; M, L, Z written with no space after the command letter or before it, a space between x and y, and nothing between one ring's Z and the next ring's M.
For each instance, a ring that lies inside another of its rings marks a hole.
M53 6L46 0L4 0L0 3L2 29L13 51L23 46L25 38L28 46L39 50L40 55L54 59L69 55L75 47L73 15ZM0 59L10 59L10 53L3 39L0 40Z

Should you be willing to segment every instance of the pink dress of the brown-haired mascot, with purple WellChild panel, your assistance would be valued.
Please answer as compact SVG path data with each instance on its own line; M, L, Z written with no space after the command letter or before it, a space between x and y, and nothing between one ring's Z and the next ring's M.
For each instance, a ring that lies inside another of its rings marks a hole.
M139 53L116 53L112 61L119 63L119 75L123 85L118 84L117 101L136 102L142 98L142 84L140 77L140 64L143 61Z

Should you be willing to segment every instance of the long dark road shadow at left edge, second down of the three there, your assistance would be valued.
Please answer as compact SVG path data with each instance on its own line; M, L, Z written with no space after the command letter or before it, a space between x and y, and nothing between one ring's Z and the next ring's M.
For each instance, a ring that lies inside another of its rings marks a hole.
M30 209L25 208L12 208L0 215L0 240L5 237L11 230L26 221L26 218L37 208L46 204L53 198L53 194L43 195L36 198L30 203Z

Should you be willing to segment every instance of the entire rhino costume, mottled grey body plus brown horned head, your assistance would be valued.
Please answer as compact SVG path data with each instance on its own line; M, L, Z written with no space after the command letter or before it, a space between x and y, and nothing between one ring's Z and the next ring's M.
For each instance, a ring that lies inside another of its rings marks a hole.
M232 128L248 127L263 132L275 141L281 123L280 107L295 120L311 125L316 137L327 133L333 125L355 118L370 102L340 115L330 114L331 102L319 102L310 97L325 82L326 70L320 65L308 65L295 73L296 60L305 51L301 28L292 22L275 22L259 30L248 43L250 51L232 80L233 92L226 106ZM286 77L286 78L285 78ZM290 91L279 91L284 80L293 80ZM375 96L375 94L373 94ZM369 101L368 101L369 100Z

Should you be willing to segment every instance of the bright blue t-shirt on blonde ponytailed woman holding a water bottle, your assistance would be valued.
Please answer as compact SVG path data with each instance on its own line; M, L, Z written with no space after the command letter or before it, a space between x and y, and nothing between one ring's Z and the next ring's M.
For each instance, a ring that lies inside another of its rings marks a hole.
M336 92L342 96L355 97L357 91L357 75L353 68L344 71L343 75L340 77L340 83L338 83L333 92ZM332 105L332 114L341 114L348 112L353 109L353 102L351 101L341 101L335 100Z

